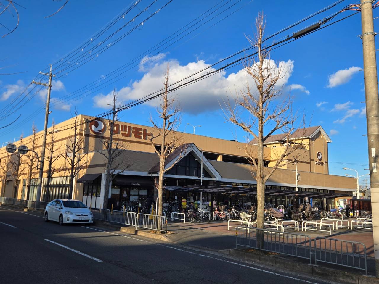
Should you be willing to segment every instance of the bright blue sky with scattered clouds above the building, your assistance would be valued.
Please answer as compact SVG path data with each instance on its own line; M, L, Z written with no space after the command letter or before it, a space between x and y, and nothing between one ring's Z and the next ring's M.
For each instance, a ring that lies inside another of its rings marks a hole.
M158 0L153 3L147 11L136 18L134 23L128 24L122 31L126 33L136 27L135 23L140 23L167 2L168 0ZM157 90L161 87L163 70L167 62L171 65L174 80L247 47L249 44L244 34L254 34L255 17L259 11L263 11L266 15L266 35L269 35L332 2L305 1L302 5L288 5L287 2L282 1L173 0L121 41L112 43L110 46L106 44L112 41L101 45L103 52L99 56L96 56L98 53L86 54L86 58L92 58L92 60L67 75L65 71L61 71L67 67L67 64L61 67L59 64L53 66L56 67L54 72L57 75L52 89L53 102L92 81L101 80L107 73L143 54L143 51L149 50L150 47L158 44L211 7L217 5L211 11L219 9L207 19L230 8L170 47L157 50L161 51L157 56L147 59L155 52L146 53L147 57L144 59L147 60L141 63L138 59L136 64L130 66L130 70L122 75L124 78L121 80L111 82L106 87L97 84L94 92L87 91L84 97L81 93L82 96L76 96L60 105L53 106L49 125L52 119L61 122L71 117L74 108L77 108L79 113L88 115L104 112L106 109L103 106L106 105L107 95L113 87L119 91L120 100L125 103ZM112 0L107 2L69 1L60 12L52 17L44 18L55 12L63 3L42 0L33 1L33 3L19 0L17 3L26 9L16 6L20 15L19 26L13 33L0 38L0 67L6 67L0 69L0 73L25 73L0 75L2 106L7 106L12 98L20 94L38 75L39 71L48 67L49 63L58 62L62 58L66 60L65 55L70 51L83 42L89 43L89 39L98 30L129 4L125 1ZM140 1L124 19L116 23L113 30L128 23L150 3L152 1ZM348 4L350 2L344 1L329 11L285 31L275 39L291 35ZM374 17L377 16L377 11L374 10ZM232 12L234 13L231 16L221 20ZM340 13L335 20L352 13L354 11ZM219 20L221 22L216 23ZM0 23L11 29L16 20L10 13L4 13L0 16ZM7 30L0 26L0 32L5 34ZM346 171L342 170L342 167L357 169L360 175L368 173L364 170L368 168L368 153L366 136L363 136L366 134L366 120L365 104L361 103L365 100L365 95L363 72L360 71L363 67L360 34L360 14L357 14L277 48L271 53L272 59L285 62L283 64L287 64L291 69L284 83L287 87L292 86L294 108L306 112L307 124L322 125L332 139L333 142L329 144L329 171L332 174L345 174ZM93 41L89 43L89 46L92 45L95 48L99 41L100 39ZM79 55L81 55L80 52ZM227 89L233 89L241 82L241 72L238 72L242 68L242 66L235 66L225 70L224 73L178 90L176 96L184 111L180 130L191 132L192 127L186 125L186 123L191 123L202 125L196 128L196 133L200 135L223 139L235 139L236 136L238 140L244 140L243 132L225 123L219 106L219 100L224 98ZM21 117L12 127L0 130L2 142L13 140L21 133L29 135L33 122L39 130L43 128L45 95L46 91L41 91L21 109L13 106L10 108L17 111L2 120L0 126L6 125L20 114ZM149 125L150 113L155 115L153 106L152 102L128 109L121 112L120 119Z

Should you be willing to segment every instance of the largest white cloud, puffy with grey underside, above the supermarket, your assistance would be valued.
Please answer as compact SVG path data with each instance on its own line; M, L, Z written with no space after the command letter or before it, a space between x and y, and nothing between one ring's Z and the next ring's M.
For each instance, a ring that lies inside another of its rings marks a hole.
M161 58L163 57L164 54L161 54ZM165 61L159 59L157 59L157 62L154 62L154 64L149 63L150 59L143 62L142 69L145 70L143 77L140 80L131 82L128 86L122 87L118 91L117 95L119 102L126 103L127 101L144 97L161 89L163 87L163 76L166 72L168 63L170 64L170 83L175 83L186 76L190 76L193 73L210 66L209 64L206 64L204 60L181 65L179 61L175 59ZM283 87L288 83L288 79L293 72L293 61L281 61L276 65L274 60L266 60L265 64L266 66L269 66L272 72L279 72L279 70L287 71L285 74L283 73L283 78L277 82L278 88ZM208 68L196 76L205 75L214 70L215 69L213 68ZM222 101L227 99L229 89L231 90L231 95L235 95L235 88L243 88L246 85L246 80L248 80L248 83L251 86L251 92L255 92L251 77L246 75L245 69L236 73L230 73L229 75L226 75L226 72L222 71L194 84L189 84L186 87L177 90L175 94L171 93L170 95L174 95L177 98L177 102L183 112L197 114L200 112L214 111L220 109L219 104L222 104ZM94 96L94 106L108 108L106 104L111 102L112 93L113 91L108 94L98 94ZM146 102L146 104L155 107L158 105L158 102L158 99L154 99Z

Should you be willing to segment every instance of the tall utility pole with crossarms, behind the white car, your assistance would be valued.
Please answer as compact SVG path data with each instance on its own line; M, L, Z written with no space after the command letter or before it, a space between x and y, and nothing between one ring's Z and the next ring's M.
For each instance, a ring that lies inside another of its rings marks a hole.
M50 64L50 73L42 73L42 75L49 76L49 84L32 81L33 84L38 84L47 87L47 100L46 100L46 112L45 112L45 127L44 127L44 136L42 140L42 149L41 149L41 160L39 162L39 175L37 181L37 194L36 194L36 209L39 208L38 201L41 201L41 189L42 189L42 176L44 173L44 160L45 160L45 148L46 148L46 137L47 137L47 123L49 121L49 106L50 106L50 92L51 92L51 80L52 77L55 76L52 73L52 65Z

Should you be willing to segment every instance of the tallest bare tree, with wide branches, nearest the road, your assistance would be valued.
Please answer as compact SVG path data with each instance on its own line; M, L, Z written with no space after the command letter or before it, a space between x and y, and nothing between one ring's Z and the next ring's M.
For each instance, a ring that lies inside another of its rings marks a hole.
M229 122L254 137L254 142L247 142L243 150L251 161L252 175L257 181L257 228L263 229L266 181L278 167L297 162L303 151L300 150L302 142L294 142L291 137L291 133L300 127L295 126L298 117L293 113L291 97L283 92L281 79L287 70L270 60L269 50L262 46L265 30L263 14L258 15L256 27L254 39L247 39L257 48L258 58L244 66L247 78L252 81L253 86L247 80L246 86L237 92L233 103L226 103L225 114ZM273 167L264 168L263 145L276 131L282 133L280 142L283 146L276 152L278 155Z

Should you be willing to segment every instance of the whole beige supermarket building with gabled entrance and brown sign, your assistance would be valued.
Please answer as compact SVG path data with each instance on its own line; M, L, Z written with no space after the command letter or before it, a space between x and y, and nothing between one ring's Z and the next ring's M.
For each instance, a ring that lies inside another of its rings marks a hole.
M69 153L67 145L76 136L80 139L82 169L75 176L73 197L82 200L92 207L101 208L105 189L105 159L99 151L104 150L102 140L109 139L109 121L94 119L87 115L78 115L78 131L75 135L72 126L74 118L55 126L54 154L57 156L53 168L58 169L50 180L50 187L46 186L47 162L44 164L44 183L42 186L42 201L54 198L69 198L69 176L64 155ZM51 128L49 128L51 131ZM113 140L123 145L125 150L114 161L117 165L109 190L108 206L113 204L116 209L121 201L139 200L143 202L156 196L155 179L158 176L158 156L153 147L159 147L159 137L155 145L151 145L149 136L154 134L150 126L136 125L127 122L117 122L114 127ZM37 133L35 151L40 152L42 131ZM256 182L251 173L251 165L246 153L240 150L246 144L235 140L224 140L213 137L200 136L188 133L178 133L183 144L172 151L166 160L166 167L175 164L164 175L164 198L166 200L180 200L193 198L203 201L216 201L221 204L254 204L256 203ZM50 134L51 135L51 134ZM321 126L313 126L295 131L291 135L293 141L301 141L301 160L296 164L288 164L277 169L266 183L266 202L276 204L294 204L309 202L330 209L339 203L346 204L356 191L356 179L329 174L328 143L331 142ZM47 147L49 147L49 136ZM31 148L31 136L22 140L23 145ZM21 145L20 141L16 145ZM250 147L254 146L254 140ZM179 150L180 149L180 150ZM268 170L276 157L284 149L283 135L276 134L265 142L264 155L265 170ZM0 149L0 159L5 160L5 147ZM12 154L17 159L17 153ZM181 157L178 161L178 158ZM27 170L23 168L23 159L20 160L20 174L17 176L15 187L12 169L8 167L5 180L1 180L1 195L25 199L27 196ZM0 162L1 162L0 160ZM200 185L201 161L203 162L203 181ZM298 191L296 187L296 167L299 173ZM29 196L36 198L36 181L38 170L32 171ZM5 185L5 187L3 187ZM5 189L5 190L4 190Z

